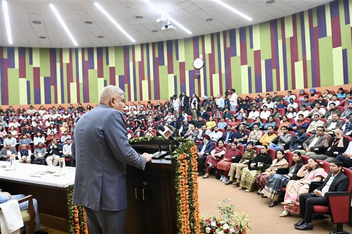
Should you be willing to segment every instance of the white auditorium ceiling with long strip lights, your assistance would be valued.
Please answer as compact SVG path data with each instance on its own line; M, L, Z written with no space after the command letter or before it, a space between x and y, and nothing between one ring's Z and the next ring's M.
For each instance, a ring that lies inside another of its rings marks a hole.
M331 0L228 0L225 2L247 14L253 21L247 21L211 0L151 0L155 5L170 12L171 17L192 31L187 34L182 29L161 31L156 23L160 14L142 0L100 1L100 5L135 40L135 44L187 38L241 26L253 25L268 20L291 15ZM74 47L73 43L57 21L49 7L55 4L61 17L78 43L78 47L101 47L131 45L126 38L93 4L87 0L7 0L13 38L12 46L23 47ZM0 4L1 7L1 4ZM135 16L143 16L136 20ZM212 18L212 22L205 19ZM33 20L42 22L32 24ZM91 21L92 25L84 22ZM158 30L158 32L152 32ZM45 36L46 39L40 39ZM99 39L97 36L104 36ZM7 41L3 12L0 9L0 46L10 46Z

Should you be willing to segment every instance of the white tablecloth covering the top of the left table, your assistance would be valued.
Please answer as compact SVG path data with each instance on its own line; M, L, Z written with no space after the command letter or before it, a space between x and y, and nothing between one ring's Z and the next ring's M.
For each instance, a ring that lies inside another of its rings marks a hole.
M45 172L45 171L56 171L59 172L59 166L46 166L46 165L35 165L27 163L17 163L16 170L7 171L3 166L9 166L10 162L0 161L0 179L28 182L41 185L49 185L55 187L65 188L75 182L75 167L66 167L66 175L54 176L54 174L46 174L41 177L33 177L31 175Z

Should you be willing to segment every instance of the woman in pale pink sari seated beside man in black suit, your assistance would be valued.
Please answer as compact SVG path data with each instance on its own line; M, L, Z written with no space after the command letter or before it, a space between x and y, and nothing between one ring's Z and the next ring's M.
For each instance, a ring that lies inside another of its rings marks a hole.
M297 176L303 178L298 181L289 181L286 186L285 199L284 202L281 203L285 205L285 210L279 215L280 217L286 217L290 212L299 214L299 195L308 193L309 184L312 181L323 181L327 173L323 168L319 167L319 163L316 159L309 158L307 164L299 169Z

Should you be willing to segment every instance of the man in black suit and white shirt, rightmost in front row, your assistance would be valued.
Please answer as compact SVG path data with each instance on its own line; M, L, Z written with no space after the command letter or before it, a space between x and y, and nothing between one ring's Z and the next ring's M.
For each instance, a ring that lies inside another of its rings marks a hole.
M330 162L331 173L321 186L311 193L299 195L299 207L301 209L301 220L294 225L298 230L313 230L312 214L313 206L327 206L327 192L346 192L349 179L342 172L344 164L341 161Z

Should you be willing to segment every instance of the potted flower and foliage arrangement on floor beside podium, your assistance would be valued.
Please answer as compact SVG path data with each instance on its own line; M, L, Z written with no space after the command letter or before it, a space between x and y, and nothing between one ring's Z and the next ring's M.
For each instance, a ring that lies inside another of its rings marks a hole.
M201 232L206 234L245 234L250 230L251 222L244 212L236 213L235 205L230 205L231 199L221 201L216 207L220 218L211 216L201 220Z

